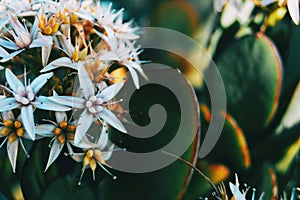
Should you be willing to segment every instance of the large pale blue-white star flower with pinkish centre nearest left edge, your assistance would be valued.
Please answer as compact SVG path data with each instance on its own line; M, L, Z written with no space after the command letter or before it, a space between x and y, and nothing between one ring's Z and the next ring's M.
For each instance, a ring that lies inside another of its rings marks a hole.
M35 139L33 116L34 108L53 111L70 110L68 107L50 101L48 97L37 96L37 93L52 77L52 75L53 73L42 74L34 79L32 83L27 85L26 76L25 84L23 84L9 69L5 70L6 80L11 90L4 86L2 87L10 91L14 97L1 99L0 112L19 108L21 110L21 118L24 128L32 140Z

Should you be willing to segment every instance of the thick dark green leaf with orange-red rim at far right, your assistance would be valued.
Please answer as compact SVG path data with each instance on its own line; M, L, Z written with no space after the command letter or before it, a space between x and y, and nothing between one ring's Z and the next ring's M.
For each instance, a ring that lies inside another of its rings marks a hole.
M228 112L247 134L262 131L277 110L282 84L281 59L274 44L262 34L244 37L224 51L217 66Z

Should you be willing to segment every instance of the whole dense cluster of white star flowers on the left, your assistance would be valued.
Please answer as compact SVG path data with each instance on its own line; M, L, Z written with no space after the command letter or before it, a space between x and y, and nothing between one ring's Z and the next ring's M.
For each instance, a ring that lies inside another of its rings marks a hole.
M138 38L133 21L124 22L123 9L112 4L0 1L0 147L6 143L14 172L19 144L26 152L22 140L45 137L52 138L46 170L66 147L83 162L82 172L97 164L107 171L114 150L108 129L126 133L114 114L115 96L127 71L136 88L138 74L146 78ZM89 133L92 124L96 134Z

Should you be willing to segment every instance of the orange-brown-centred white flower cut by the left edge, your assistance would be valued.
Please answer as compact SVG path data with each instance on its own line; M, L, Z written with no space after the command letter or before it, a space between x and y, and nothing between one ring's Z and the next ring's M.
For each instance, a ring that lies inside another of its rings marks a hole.
M22 142L22 138L28 138L28 134L22 127L20 117L15 120L14 114L11 111L2 113L2 123L0 124L0 138L5 137L4 141L0 145L0 148L7 141L7 154L13 172L15 173L19 143L21 144L27 157L29 157Z

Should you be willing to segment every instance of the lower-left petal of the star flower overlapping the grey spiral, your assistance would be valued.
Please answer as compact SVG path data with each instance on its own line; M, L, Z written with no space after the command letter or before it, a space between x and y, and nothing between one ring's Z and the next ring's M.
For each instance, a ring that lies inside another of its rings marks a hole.
M93 115L87 112L87 110L84 110L79 117L78 125L76 127L75 139L74 139L75 145L79 144L79 142L82 140L83 136L90 128L92 122L93 122Z

